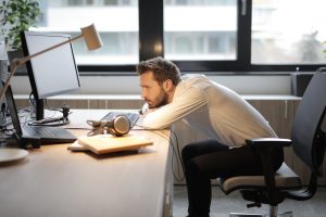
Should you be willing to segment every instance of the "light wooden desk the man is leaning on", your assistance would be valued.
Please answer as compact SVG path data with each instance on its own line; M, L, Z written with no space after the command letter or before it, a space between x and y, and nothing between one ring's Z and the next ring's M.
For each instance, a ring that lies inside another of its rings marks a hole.
M74 111L71 127L108 111ZM87 125L85 125L87 126ZM70 126L66 126L70 127ZM86 130L72 130L76 136ZM1 217L167 216L172 184L168 130L136 131L154 145L98 156L42 145L23 162L0 166ZM170 186L170 187L167 187Z

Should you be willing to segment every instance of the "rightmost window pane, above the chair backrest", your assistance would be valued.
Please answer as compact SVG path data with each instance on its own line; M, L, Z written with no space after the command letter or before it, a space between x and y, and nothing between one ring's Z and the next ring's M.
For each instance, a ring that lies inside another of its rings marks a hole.
M323 0L254 0L251 62L253 64L321 64L326 40Z

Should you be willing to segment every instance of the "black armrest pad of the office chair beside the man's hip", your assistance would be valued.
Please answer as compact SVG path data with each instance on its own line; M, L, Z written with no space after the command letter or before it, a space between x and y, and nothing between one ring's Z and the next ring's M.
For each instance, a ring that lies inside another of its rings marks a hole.
M280 139L280 138L255 138L247 139L246 143L249 145L254 145L256 148L279 148L279 146L290 146L292 141L290 139Z

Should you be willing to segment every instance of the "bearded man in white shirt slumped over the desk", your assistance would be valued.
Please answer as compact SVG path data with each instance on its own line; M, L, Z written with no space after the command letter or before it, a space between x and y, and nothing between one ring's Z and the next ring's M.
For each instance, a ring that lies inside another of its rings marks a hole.
M177 66L162 58L140 62L137 72L146 101L143 127L162 129L183 119L211 138L181 152L189 216L210 215L211 179L262 174L259 155L244 140L276 133L239 94L203 75L180 76ZM283 159L280 149L274 153L275 170Z

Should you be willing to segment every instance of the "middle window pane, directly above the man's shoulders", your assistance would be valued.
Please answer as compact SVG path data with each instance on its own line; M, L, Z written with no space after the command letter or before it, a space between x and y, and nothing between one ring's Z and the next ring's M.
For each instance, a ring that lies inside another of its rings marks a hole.
M236 60L237 17L237 0L165 1L165 58Z

